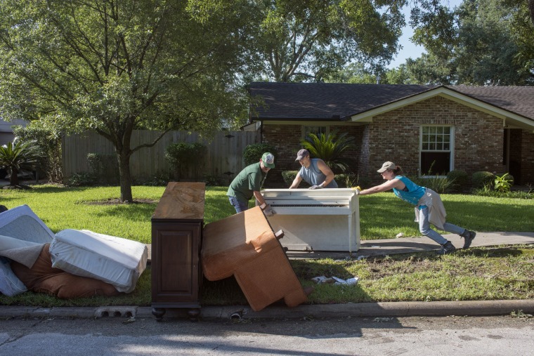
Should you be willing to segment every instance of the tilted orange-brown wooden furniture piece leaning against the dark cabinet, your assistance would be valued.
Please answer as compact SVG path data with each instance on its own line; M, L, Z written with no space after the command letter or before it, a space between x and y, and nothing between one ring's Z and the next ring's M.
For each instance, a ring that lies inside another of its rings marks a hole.
M259 206L204 227L201 263L216 281L232 275L252 310L280 299L289 307L307 300L302 286Z

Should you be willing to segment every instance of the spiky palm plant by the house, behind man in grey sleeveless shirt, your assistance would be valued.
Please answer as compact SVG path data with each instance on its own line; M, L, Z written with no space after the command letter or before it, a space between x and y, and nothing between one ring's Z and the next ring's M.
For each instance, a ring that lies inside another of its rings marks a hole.
M327 135L320 133L319 136L315 133L309 133L301 141L301 145L310 152L312 157L323 159L334 173L336 171L345 172L353 164L351 159L343 157L345 152L356 148L354 138L346 132L339 136L336 132Z

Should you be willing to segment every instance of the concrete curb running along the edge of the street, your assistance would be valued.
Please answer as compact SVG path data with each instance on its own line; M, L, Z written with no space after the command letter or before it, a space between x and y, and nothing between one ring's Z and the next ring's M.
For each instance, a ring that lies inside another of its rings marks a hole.
M294 308L270 306L254 312L249 306L208 306L200 309L204 319L266 319L303 317L413 317L413 316L481 316L509 315L513 311L534 314L534 300L514 301L441 301L441 302L386 302L298 305ZM188 309L169 308L163 319L187 318ZM82 318L104 317L155 318L151 307L60 307L32 308L4 305L0 307L1 318Z

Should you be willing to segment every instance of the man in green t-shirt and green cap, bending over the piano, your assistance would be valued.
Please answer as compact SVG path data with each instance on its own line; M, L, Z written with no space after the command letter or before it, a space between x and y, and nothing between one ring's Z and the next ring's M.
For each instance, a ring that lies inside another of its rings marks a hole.
M273 216L274 211L266 204L260 189L267 172L275 168L275 157L271 152L265 152L258 163L246 166L230 183L228 199L235 208L236 213L249 209L249 200L254 196L266 216Z

